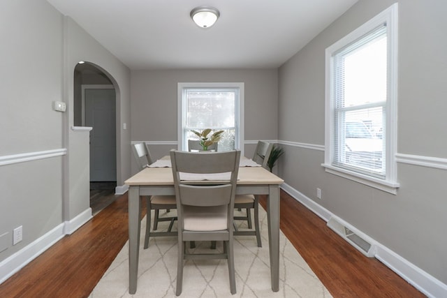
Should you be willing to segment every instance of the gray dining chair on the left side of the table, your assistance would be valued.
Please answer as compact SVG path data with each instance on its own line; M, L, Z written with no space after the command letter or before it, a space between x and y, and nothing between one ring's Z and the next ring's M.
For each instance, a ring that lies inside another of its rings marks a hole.
M152 164L152 157L149 151L149 147L144 142L133 144L133 156L140 166L140 170L145 167L149 167ZM152 195L146 197L146 233L145 233L145 248L149 247L149 237L158 236L176 236L177 232L172 232L174 221L177 216L159 216L161 209L166 209L167 212L170 209L176 209L175 195ZM154 231L158 229L159 221L170 221L167 232L151 232L151 210L154 210Z

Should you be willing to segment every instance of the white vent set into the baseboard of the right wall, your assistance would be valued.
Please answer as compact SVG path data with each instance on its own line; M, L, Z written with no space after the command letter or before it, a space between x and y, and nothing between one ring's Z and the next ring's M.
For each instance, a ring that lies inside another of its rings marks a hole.
M343 239L348 241L352 246L357 248L360 252L368 258L374 258L374 245L362 232L356 231L349 227L347 223L336 216L332 216L328 221L328 227L339 234Z

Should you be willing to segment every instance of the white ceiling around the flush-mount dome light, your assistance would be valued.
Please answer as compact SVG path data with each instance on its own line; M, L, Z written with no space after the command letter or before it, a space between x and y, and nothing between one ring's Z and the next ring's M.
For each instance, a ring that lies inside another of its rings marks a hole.
M132 70L277 68L358 0L47 0ZM203 29L189 13L214 6Z

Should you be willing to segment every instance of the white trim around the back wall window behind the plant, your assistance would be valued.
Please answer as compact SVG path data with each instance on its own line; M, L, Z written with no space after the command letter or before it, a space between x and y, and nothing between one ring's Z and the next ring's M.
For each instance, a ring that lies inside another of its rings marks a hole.
M238 140L235 140L235 149L241 151L244 155L244 82L179 82L177 83L177 149L183 150L184 140L183 135L183 91L186 88L232 88L239 90L238 105L235 110L235 127L239 129ZM186 148L186 147L185 147Z

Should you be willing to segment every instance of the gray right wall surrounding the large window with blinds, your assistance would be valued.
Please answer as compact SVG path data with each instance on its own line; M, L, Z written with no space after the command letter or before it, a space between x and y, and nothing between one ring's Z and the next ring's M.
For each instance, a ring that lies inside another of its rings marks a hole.
M397 156L444 158L434 166L397 163L391 195L328 174L324 151L325 48L388 8L392 0L360 0L279 68L279 175L332 214L447 283L447 2L399 1ZM293 145L295 144L295 145ZM404 159L404 158L401 158ZM444 165L444 169L439 169ZM316 188L322 189L322 200Z

